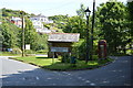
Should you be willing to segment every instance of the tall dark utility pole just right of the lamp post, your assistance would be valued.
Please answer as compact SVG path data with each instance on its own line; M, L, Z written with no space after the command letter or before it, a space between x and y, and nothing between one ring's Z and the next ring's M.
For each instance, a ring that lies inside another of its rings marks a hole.
M94 29L94 18L95 18L95 0L93 0L93 16L92 16L92 30L91 30L90 59L92 59L92 55L93 55L93 29Z

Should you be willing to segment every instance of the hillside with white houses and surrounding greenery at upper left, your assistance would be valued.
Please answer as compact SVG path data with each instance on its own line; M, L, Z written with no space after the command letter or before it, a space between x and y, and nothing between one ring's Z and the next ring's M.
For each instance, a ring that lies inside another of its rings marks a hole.
M55 33L58 31L62 32L60 29L55 26L55 23L53 20L49 19L49 16L45 16L43 14L29 14L22 11L33 24L33 28L35 29L35 32L38 33ZM2 9L2 16L3 19L7 19L7 21L13 23L18 28L22 28L22 15L21 11L19 10L10 10L10 9ZM2 21L0 21L1 23ZM24 24L25 25L25 24Z

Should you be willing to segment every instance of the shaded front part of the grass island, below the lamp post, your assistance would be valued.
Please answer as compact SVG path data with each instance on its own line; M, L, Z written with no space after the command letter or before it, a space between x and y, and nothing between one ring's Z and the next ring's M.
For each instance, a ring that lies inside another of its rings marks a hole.
M108 62L112 62L112 59L108 58L105 61L90 61L88 64L85 64L84 61L78 61L75 65L55 63L53 65L44 66L43 68L55 69L55 70L93 69L104 65Z

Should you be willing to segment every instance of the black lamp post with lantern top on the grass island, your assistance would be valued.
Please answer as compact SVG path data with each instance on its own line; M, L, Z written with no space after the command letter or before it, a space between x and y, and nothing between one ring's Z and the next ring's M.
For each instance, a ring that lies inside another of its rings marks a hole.
M89 10L89 8L84 11L85 15L86 15L86 58L85 58L85 63L88 64L89 61L89 54L90 54L90 48L89 48L89 16L91 11Z

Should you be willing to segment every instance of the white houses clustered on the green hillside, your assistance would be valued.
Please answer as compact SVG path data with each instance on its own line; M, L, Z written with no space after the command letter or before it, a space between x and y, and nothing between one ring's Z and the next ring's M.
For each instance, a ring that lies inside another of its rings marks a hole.
M33 24L33 26L35 29L35 32L38 32L38 33L55 32L52 29L44 28L43 23L44 24L53 23L53 21L49 20L48 16L44 16L42 14L38 14L35 16L29 18L29 20L32 21L32 24ZM11 23L14 23L17 26L22 28L22 20L21 20L21 18L12 16L10 19L10 21L11 21Z

